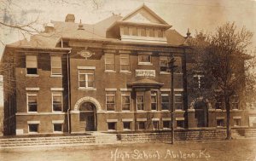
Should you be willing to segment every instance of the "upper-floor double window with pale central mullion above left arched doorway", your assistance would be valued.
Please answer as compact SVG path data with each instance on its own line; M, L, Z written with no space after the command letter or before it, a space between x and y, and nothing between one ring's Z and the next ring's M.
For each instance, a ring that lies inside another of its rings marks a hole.
M79 69L79 87L94 88L94 70Z

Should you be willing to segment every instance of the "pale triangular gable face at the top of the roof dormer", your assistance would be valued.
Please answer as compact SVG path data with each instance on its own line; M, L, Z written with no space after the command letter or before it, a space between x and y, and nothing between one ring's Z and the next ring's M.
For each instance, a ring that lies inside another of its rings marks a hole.
M131 14L126 15L122 21L167 25L165 20L162 20L157 14L155 14L145 5L139 9L136 9Z

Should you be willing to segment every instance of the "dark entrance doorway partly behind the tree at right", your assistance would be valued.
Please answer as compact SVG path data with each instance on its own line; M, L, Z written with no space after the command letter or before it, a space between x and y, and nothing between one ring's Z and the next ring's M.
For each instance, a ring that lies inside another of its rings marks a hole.
M207 103L204 101L195 102L195 123L197 127L208 126Z

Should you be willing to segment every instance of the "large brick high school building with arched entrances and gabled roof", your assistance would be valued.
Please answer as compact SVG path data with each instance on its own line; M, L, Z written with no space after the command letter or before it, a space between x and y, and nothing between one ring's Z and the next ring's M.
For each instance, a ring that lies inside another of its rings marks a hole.
M189 92L204 84L195 73L188 87L189 37L145 5L93 25L73 14L51 21L30 41L6 45L4 134L171 129L172 56L175 128L224 127L222 101ZM247 126L239 96L231 103L231 125Z

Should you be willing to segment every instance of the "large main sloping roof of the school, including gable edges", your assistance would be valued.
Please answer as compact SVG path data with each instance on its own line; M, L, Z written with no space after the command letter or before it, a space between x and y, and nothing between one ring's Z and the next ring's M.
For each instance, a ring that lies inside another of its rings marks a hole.
M120 42L119 37L108 37L107 31L110 26L117 23L120 20L129 20L131 16L137 14L139 11L147 11L152 20L158 21L162 26L169 26L165 20L162 20L160 16L154 14L154 12L147 6L143 5L131 14L127 14L125 17L119 14L113 14L105 20L101 20L96 24L82 24L84 30L79 29L79 23L65 22L65 21L51 21L50 23L54 26L53 32L40 32L37 35L33 35L30 40L20 40L15 43L11 43L11 46L22 47L44 47L44 48L55 48L57 43L61 41L62 37L68 37L69 39L88 39L88 40L104 40ZM134 23L134 22L132 22ZM152 23L159 25L157 23ZM169 29L166 31L167 44L178 46L183 45L185 38L176 32L175 30Z

